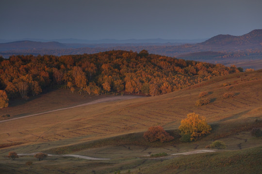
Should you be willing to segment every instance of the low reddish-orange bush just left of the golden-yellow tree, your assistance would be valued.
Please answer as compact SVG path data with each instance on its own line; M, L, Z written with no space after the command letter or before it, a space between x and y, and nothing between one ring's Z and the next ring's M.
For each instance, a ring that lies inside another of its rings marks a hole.
M161 126L152 126L144 133L144 138L149 142L160 141L161 143L170 142L174 139Z

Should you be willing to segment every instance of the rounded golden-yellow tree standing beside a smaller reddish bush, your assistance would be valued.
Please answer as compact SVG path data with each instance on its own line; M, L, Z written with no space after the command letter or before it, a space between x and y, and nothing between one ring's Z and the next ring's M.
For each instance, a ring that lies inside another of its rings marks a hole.
M179 127L181 135L190 135L190 140L198 140L201 136L210 133L211 126L207 124L204 116L190 113L187 118L181 120Z

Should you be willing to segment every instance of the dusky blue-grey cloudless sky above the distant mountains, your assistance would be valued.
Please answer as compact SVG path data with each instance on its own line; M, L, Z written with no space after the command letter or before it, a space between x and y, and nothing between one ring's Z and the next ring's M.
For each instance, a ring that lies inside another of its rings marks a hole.
M0 39L202 39L262 29L262 0L0 0Z

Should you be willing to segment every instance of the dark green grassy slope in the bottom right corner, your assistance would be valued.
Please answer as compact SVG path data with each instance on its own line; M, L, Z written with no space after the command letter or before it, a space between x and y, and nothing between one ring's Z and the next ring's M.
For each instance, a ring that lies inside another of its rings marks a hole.
M145 167L145 174L260 174L262 146L238 151L181 156Z

